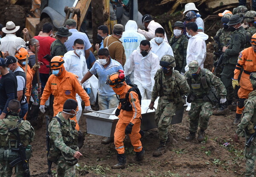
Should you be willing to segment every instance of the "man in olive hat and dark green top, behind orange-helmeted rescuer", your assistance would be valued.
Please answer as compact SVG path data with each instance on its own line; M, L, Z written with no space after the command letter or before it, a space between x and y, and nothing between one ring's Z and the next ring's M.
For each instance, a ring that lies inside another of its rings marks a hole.
M56 33L57 40L53 41L51 44L51 55L54 56L64 56L67 53L67 47L64 45L65 42L68 41L68 38L72 35L72 32L66 27L58 27L58 31Z

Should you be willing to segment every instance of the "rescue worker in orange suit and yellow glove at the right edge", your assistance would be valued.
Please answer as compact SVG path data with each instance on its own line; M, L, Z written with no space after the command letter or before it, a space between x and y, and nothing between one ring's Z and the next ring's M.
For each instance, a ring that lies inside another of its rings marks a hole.
M248 99L248 95L253 91L253 86L250 82L250 73L256 72L256 34L250 39L251 47L244 49L239 53L236 69L234 71L234 78L232 78L232 85L235 89L236 86L240 86L238 90L239 100L236 106L236 119L234 124L237 125L240 122L242 112L244 110L244 101ZM243 67L240 81L238 82L241 68Z

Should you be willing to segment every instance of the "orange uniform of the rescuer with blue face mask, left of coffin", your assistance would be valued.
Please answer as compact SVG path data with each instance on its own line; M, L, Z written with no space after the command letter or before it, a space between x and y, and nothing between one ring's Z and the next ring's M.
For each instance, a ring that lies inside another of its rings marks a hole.
M62 67L62 70L63 73L61 73L61 78L53 74L49 76L49 79L44 87L44 92L40 102L40 105L44 105L50 94L54 96L53 116L56 116L58 112L62 111L64 102L67 99L76 100L76 93L81 96L85 106L90 106L90 97L81 87L78 81L78 77L73 73L67 72L64 67ZM79 125L77 123L76 116L70 119L76 122L76 130L79 131Z

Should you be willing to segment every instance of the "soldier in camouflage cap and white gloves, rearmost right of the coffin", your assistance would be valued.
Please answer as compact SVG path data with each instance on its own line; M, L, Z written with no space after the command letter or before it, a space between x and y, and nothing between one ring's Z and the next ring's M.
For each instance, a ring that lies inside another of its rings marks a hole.
M220 78L213 75L209 70L200 68L198 61L190 62L185 78L190 87L188 102L191 102L191 109L189 111L190 133L186 137L186 141L195 139L199 123L200 130L198 131L197 140L201 142L204 140L204 131L207 129L209 118L212 115L212 104L217 101L212 87L218 90L218 95L221 96L221 104L227 101L227 91Z

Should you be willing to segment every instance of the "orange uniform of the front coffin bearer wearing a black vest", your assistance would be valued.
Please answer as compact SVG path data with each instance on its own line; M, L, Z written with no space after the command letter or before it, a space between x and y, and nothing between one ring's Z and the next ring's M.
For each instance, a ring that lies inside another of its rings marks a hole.
M120 99L124 99L126 96L126 93L128 93L128 90L131 88L131 86L125 84L124 92L119 95ZM116 151L118 154L124 154L125 153L125 147L123 140L125 139L125 128L126 126L131 122L133 123L131 134L129 134L129 137L131 139L131 144L134 147L135 152L142 151L143 147L140 141L141 135L140 135L140 123L141 123L141 107L140 107L140 100L138 98L137 93L134 91L131 91L129 94L129 102L131 103L132 110L126 111L121 110L119 114L119 120L116 124L116 130L114 133L114 144L116 146ZM119 103L117 109L121 109L121 103Z

